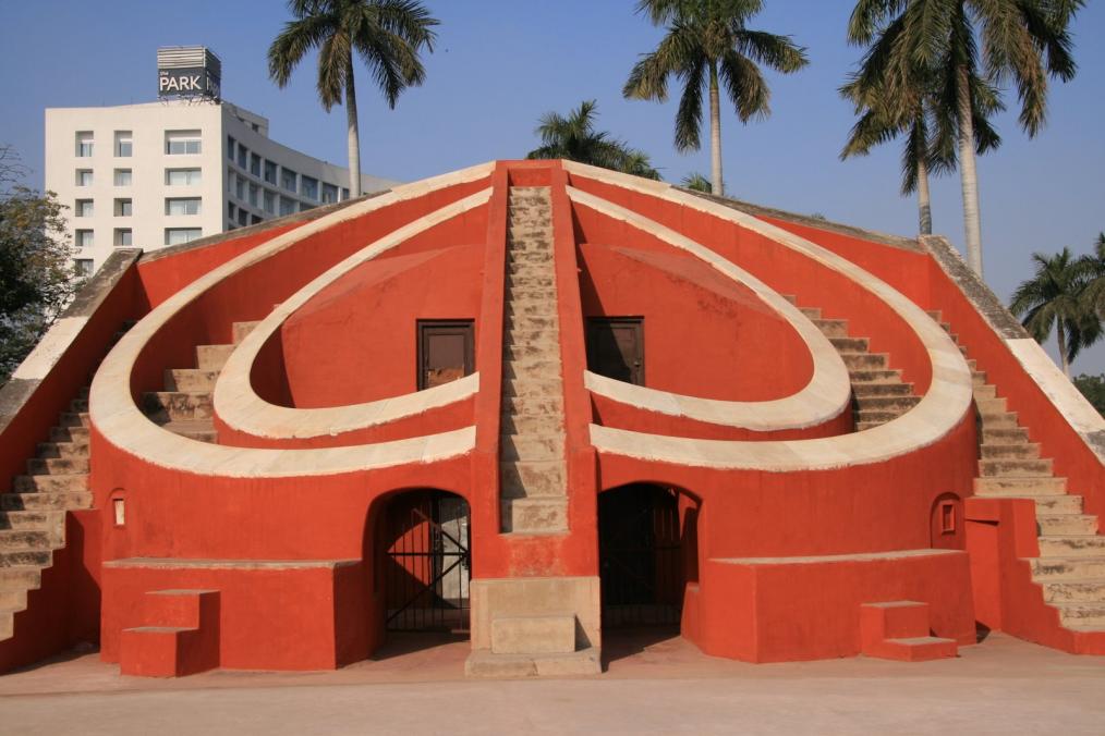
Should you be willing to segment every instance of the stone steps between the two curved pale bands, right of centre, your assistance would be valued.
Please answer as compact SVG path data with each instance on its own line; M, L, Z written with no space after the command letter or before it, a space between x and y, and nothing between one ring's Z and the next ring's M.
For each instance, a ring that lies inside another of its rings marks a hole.
M796 303L793 297L783 298ZM920 402L913 384L902 381L902 371L890 369L886 353L872 353L867 338L849 335L848 320L824 319L817 307L799 309L829 339L848 367L856 431L896 419Z

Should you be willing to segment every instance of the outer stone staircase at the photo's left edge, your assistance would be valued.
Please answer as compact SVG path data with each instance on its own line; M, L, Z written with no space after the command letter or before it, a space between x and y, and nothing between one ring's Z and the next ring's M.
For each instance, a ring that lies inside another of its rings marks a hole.
M70 404L10 493L0 493L0 641L42 585L54 550L65 546L65 512L92 508L88 490L88 390Z

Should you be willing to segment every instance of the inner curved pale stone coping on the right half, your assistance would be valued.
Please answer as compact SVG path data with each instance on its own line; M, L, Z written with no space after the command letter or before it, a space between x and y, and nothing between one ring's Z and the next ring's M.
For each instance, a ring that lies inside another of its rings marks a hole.
M813 359L813 374L809 383L798 393L774 401L728 402L701 398L638 386L585 371L583 384L588 390L599 396L649 412L755 431L812 427L840 416L848 408L852 390L848 367L840 353L798 307L779 296L775 289L706 246L655 221L572 186L568 188L568 196L575 204L624 222L690 253L733 281L747 287L793 328Z

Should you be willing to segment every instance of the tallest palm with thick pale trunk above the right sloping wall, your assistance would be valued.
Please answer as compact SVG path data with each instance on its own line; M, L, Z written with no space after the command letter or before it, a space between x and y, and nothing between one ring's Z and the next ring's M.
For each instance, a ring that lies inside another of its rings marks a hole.
M1066 82L1074 76L1066 29L1083 4L1085 0L859 0L852 11L848 35L853 43L870 43L899 25L898 41L887 50L890 66L898 70L891 84L903 83L916 65L939 79L940 107L955 114L967 257L980 276L976 81L982 72L994 82L1014 83L1021 127L1035 136L1046 119L1048 77Z

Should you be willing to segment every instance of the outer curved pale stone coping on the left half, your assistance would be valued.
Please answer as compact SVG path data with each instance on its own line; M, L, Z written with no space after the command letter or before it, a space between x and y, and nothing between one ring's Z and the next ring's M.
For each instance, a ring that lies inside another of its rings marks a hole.
M362 217L398 202L418 199L454 184L491 175L484 163L412 184L356 203L283 233L196 279L158 305L131 328L101 364L92 384L92 423L118 447L152 465L200 476L290 478L326 476L433 462L470 452L475 427L410 439L339 448L272 449L211 445L182 437L146 417L130 395L130 376L146 343L180 310L208 289L253 264L269 258L334 225Z

